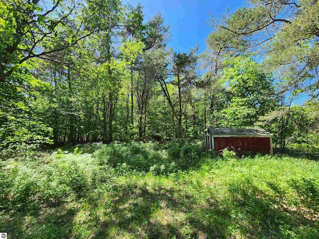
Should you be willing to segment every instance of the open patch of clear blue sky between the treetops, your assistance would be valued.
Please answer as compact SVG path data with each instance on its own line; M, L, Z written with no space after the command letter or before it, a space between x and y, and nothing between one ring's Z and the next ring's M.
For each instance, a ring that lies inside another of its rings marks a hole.
M144 6L145 17L160 12L164 23L169 25L171 41L168 44L175 51L188 52L199 44L199 52L206 48L205 39L212 31L207 24L209 15L220 16L229 8L233 12L244 5L244 0L125 0L124 2Z

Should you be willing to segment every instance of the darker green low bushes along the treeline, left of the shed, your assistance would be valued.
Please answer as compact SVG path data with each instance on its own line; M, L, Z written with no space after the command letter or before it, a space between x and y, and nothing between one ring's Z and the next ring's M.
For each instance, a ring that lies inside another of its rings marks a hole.
M99 149L94 155L100 165L110 165L120 172L151 171L155 174L173 173L178 169L186 169L196 165L200 159L202 148L194 144L170 142L159 143L112 143Z

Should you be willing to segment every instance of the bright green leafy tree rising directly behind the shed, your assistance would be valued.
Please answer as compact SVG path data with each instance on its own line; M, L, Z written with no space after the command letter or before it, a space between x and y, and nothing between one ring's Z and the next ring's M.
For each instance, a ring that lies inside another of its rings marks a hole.
M260 65L246 56L230 58L222 72L221 83L227 100L222 110L214 112L223 127L254 126L260 116L271 112L277 105L273 79Z

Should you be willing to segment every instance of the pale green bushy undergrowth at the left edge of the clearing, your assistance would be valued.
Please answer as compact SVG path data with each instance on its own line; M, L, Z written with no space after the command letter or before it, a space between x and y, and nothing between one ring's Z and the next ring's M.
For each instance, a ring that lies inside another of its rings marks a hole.
M0 162L0 209L23 210L56 205L81 196L113 177L110 168L97 165L88 154L53 153L50 160Z

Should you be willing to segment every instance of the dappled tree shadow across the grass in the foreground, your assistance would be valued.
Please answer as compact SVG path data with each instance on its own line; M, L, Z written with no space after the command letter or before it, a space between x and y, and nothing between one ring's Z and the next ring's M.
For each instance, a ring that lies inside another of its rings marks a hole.
M204 188L178 183L115 184L95 200L88 193L72 203L1 215L0 230L17 239L318 238L316 220L287 207L272 188L278 193L269 198L242 179L225 195L211 189L201 197Z

